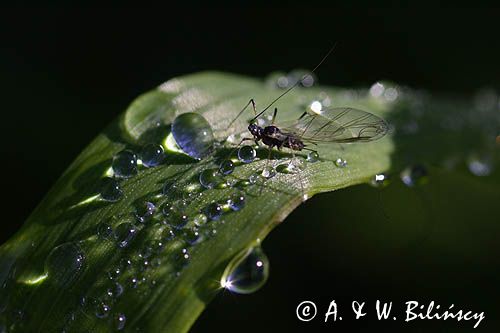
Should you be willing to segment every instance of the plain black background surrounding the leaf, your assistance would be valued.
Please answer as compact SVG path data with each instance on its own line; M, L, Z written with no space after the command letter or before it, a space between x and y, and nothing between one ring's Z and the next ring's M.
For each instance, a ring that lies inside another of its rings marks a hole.
M19 228L97 133L138 94L173 76L217 69L263 77L277 69L312 68L338 42L318 71L323 84L369 86L388 79L435 94L467 97L482 87L499 88L498 14L493 8L388 5L2 9L0 133L7 195L1 203L0 242ZM397 185L390 191L389 197L406 193L416 211L425 209L422 197L428 194L404 192ZM466 263L476 258L464 259L462 252L446 252L439 246L419 254L420 240L413 239L411 231L403 241L389 237L389 245L386 238L371 239L373 234L366 230L379 235L374 225L384 221L378 195L361 186L319 196L298 209L264 243L272 264L264 289L251 296L218 296L193 331L366 328L367 322L301 324L294 313L304 299L317 299L326 307L333 298L345 304L357 298L421 298L498 313L491 299L484 300L488 283L496 278L487 279L485 286L481 277L469 276L470 267L450 271L440 266L457 256ZM364 207L364 215L352 213L358 205ZM393 220L403 216L397 207L391 209ZM482 213L488 218L487 211ZM355 227L366 225L346 223L358 220L373 225L360 231ZM428 223L424 217L419 221ZM441 259L429 259L436 253L433 249ZM366 252L371 255L364 257ZM450 265L451 270L459 266ZM448 275L433 276L430 272L436 267L441 267L439 274ZM426 278L438 282L414 281ZM482 289L474 289L481 284ZM398 321L393 328L399 331L402 325L406 328Z

